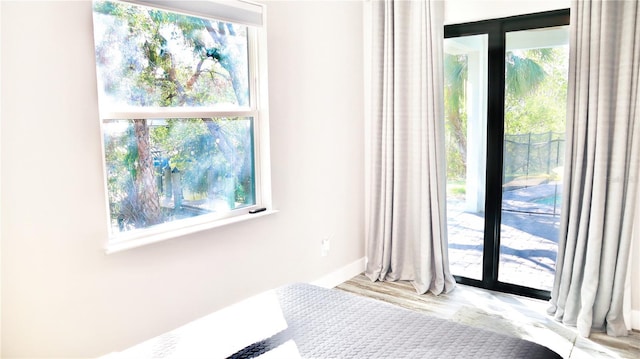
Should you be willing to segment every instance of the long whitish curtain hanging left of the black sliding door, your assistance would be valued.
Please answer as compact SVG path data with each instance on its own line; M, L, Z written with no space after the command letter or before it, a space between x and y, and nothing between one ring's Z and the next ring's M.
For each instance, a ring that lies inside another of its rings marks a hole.
M365 274L448 292L443 1L371 1Z

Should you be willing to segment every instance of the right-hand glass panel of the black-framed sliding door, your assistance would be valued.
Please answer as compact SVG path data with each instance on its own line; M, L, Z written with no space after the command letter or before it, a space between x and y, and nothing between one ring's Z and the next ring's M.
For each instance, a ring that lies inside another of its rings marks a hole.
M551 290L562 202L568 26L505 36L500 282Z

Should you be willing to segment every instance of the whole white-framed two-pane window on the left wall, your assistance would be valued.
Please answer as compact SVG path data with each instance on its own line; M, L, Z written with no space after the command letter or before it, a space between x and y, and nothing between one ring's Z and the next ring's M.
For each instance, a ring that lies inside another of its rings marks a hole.
M108 248L268 206L262 7L95 1L93 24Z

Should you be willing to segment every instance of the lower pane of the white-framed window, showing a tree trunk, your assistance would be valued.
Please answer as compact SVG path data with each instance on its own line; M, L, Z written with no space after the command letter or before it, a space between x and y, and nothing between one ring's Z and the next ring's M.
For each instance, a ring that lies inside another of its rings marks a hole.
M112 233L255 204L253 118L105 120Z

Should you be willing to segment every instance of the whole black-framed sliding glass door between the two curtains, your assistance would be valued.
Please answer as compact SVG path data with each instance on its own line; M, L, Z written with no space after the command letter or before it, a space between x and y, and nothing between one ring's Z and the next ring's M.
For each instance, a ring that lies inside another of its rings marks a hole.
M447 230L460 283L549 298L568 24L557 10L445 26Z

